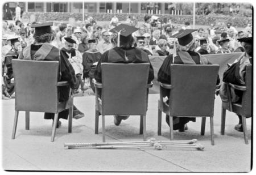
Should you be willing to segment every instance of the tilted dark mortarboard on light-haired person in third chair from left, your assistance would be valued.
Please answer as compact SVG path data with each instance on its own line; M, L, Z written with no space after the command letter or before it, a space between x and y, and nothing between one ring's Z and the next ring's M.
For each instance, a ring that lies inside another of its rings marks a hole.
M189 44L193 40L192 32L197 31L196 29L185 29L184 31L180 31L179 33L176 33L175 35L172 35L172 38L177 38L179 45L185 46Z

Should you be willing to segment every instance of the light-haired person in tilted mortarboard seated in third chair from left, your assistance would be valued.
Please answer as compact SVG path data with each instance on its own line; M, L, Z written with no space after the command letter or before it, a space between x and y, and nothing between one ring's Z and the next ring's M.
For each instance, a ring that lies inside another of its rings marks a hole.
M176 44L174 45L174 54L167 56L162 66L158 71L158 81L166 84L171 84L171 64L184 64L184 65L211 65L204 56L196 53L195 50L195 39L192 36L192 32L195 29L186 29L176 33L172 37L177 38L178 46L176 49ZM177 52L176 52L177 50ZM217 84L220 83L218 78ZM170 89L164 89L163 97L170 96ZM168 102L167 102L168 103ZM184 131L187 129L185 125L189 121L195 121L195 118L190 117L174 117L174 130ZM166 116L166 122L170 125L169 116Z

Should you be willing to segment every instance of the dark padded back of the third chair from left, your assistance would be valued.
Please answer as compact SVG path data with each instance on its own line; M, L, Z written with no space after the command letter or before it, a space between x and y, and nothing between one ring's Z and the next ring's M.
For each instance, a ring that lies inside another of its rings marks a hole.
M171 65L171 116L213 116L218 65Z

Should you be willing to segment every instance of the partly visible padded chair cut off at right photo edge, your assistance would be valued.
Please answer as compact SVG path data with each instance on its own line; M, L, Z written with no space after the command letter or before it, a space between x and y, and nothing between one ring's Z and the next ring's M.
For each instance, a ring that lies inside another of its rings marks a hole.
M252 117L252 108L251 108L251 65L246 66L245 73L245 86L237 86L235 84L228 83L228 102L222 102L222 113L221 113L221 135L225 134L225 119L226 119L226 110L234 112L242 116L242 126L243 126L243 136L245 138L245 144L248 144L248 131L246 127L246 118ZM230 88L238 89L243 91L242 103L232 103Z

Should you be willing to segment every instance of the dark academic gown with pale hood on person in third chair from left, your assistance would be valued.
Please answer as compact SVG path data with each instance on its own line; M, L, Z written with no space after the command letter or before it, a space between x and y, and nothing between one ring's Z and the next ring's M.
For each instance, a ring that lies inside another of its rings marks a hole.
M162 83L171 84L171 64L182 65L211 65L206 58L202 57L199 53L187 51L177 52L177 56L172 59L172 54L164 59L162 66L158 71L158 81ZM217 84L220 83L220 78L217 79ZM163 89L163 97L170 97L170 89ZM168 101L167 101L168 103ZM189 121L196 121L196 118L191 117L173 117L174 130L180 129ZM169 116L166 116L166 122L169 125Z

